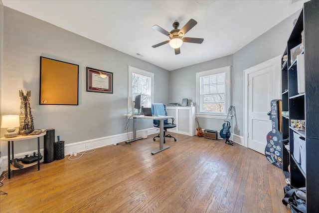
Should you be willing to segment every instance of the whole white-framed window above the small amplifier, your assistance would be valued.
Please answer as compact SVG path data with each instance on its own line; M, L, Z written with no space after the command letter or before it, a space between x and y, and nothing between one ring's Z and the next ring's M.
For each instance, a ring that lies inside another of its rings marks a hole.
M230 106L230 66L196 73L197 117L224 119Z

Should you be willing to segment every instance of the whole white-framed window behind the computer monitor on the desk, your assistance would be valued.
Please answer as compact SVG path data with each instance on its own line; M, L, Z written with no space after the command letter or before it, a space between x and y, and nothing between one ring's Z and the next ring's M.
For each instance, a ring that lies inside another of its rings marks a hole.
M141 106L151 107L154 102L154 73L129 66L129 112L135 96L140 94Z

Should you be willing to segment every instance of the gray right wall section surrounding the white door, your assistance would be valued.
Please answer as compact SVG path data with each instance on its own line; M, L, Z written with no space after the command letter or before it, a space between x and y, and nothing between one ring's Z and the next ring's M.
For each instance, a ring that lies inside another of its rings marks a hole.
M300 11L294 13L234 53L232 82L234 134L244 135L244 70L284 53L293 29L293 21L299 14ZM278 70L278 78L281 78L281 70Z

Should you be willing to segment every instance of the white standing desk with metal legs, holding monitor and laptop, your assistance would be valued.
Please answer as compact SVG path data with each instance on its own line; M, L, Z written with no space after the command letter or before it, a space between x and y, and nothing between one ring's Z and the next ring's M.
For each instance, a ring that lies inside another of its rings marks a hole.
M169 146L164 146L164 120L168 118L173 118L173 116L146 116L146 115L128 115L124 114L123 116L130 118L133 118L133 141L139 140L136 138L136 119L149 119L149 120L159 120L160 121L160 149L157 151L152 152L152 155L155 155L165 149L168 149Z

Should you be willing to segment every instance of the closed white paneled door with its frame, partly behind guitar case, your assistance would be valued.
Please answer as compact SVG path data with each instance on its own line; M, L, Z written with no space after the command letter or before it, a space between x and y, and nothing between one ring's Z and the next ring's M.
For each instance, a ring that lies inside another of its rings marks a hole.
M272 130L267 113L270 102L281 99L281 57L276 57L245 70L247 88L247 145L265 154L267 134Z

